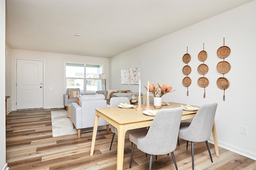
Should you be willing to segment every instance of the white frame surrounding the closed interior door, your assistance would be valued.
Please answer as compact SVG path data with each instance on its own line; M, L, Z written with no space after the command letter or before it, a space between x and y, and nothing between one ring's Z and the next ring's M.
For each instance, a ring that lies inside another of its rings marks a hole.
M13 92L14 92L14 103L13 103L13 106L14 106L14 110L17 110L17 105L16 105L16 102L17 102L17 87L16 87L16 83L17 83L17 67L16 67L16 65L17 65L17 60L33 60L33 61L42 61L43 62L43 85L45 86L45 61L44 60L40 60L40 59L27 59L27 58L14 58L14 90L13 90ZM43 86L43 87L44 87ZM43 90L43 108L39 108L39 109L44 109L44 100L45 100L45 98L44 98L44 91L45 91L45 89ZM19 110L31 110L31 109L19 109Z

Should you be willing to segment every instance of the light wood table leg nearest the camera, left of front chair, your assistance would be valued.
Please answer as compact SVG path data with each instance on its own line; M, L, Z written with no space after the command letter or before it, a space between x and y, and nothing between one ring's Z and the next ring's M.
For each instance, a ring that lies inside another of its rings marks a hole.
M116 169L122 170L124 164L124 141L125 141L125 133L127 129L124 126L118 127L118 138L117 138L117 161L116 161Z

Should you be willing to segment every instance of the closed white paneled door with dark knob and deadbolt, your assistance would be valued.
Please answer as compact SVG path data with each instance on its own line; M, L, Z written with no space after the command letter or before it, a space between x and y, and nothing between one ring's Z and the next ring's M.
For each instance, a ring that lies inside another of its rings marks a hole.
M43 61L16 62L16 109L43 108Z

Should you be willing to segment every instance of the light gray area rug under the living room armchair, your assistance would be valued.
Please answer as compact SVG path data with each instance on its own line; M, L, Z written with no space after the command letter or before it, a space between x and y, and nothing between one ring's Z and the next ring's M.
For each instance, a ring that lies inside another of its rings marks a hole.
M77 129L73 129L73 123L68 118L68 112L65 110L51 111L52 118L52 137L77 134ZM106 125L99 126L98 130L106 129ZM93 127L81 129L81 133L93 131Z

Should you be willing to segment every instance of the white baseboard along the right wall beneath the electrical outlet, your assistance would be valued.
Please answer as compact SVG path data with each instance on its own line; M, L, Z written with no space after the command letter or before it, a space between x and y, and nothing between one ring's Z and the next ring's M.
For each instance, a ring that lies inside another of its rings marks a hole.
M208 142L214 144L213 139L209 139ZM222 148L224 148L224 149L230 150L230 151L232 151L232 152L235 152L235 153L237 153L237 154L240 154L240 155L242 155L242 156L246 156L247 158L251 158L251 159L253 159L253 160L256 160L256 154L255 154L255 153L248 152L248 151L246 151L246 150L242 150L242 149L240 149L240 148L227 145L226 143L222 143L222 142L220 142L220 141L218 141L218 146L219 146L219 147L222 147ZM220 155L220 156L221 156L221 155Z

